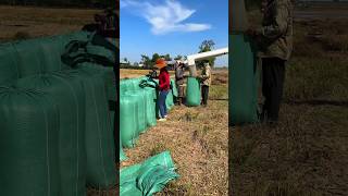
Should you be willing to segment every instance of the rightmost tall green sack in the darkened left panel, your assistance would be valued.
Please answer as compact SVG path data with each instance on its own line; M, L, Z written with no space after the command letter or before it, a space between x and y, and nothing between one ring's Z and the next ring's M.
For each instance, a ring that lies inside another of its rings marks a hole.
M104 81L78 70L86 93L87 185L108 188L115 184L115 146Z

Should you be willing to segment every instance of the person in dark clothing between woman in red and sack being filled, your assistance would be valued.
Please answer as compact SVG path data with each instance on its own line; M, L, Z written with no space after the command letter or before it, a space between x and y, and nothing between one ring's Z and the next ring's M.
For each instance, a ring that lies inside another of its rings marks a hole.
M184 91L185 91L185 78L187 75L185 75L185 64L182 62L177 62L176 68L175 68L175 84L177 88L177 99L176 103L181 106L183 103L184 99Z

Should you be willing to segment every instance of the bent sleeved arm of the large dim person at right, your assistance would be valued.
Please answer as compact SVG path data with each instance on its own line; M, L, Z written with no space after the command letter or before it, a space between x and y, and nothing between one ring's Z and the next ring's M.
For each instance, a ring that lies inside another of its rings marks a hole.
M287 32L288 27L288 5L286 3L275 3L274 10L272 10L274 14L273 23L256 30L257 35L261 35L268 39L277 39Z

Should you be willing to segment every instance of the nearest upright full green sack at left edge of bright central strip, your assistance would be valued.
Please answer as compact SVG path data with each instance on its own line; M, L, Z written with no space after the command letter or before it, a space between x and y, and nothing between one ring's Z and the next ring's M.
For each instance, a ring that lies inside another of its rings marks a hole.
M134 96L122 95L120 99L120 138L125 147L134 147L139 135L138 103Z

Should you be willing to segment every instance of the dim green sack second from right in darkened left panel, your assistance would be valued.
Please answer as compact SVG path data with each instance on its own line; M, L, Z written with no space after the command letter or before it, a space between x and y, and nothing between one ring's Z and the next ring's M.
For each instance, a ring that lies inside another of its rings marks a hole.
M60 195L85 195L85 91L77 72L65 71L21 78L16 87L39 89L51 96L60 111Z

